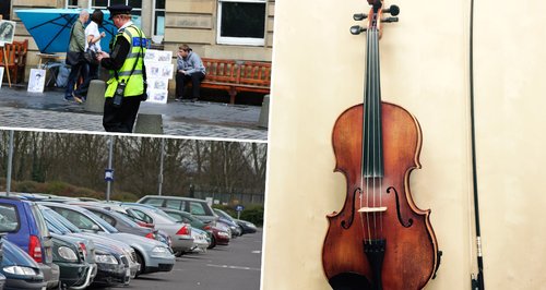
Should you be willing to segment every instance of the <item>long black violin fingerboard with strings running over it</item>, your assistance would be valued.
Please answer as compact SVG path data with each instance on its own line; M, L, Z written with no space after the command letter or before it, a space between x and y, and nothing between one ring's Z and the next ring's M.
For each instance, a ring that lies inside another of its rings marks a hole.
M381 133L381 83L379 73L379 31L367 31L366 90L363 120L363 176L383 177Z

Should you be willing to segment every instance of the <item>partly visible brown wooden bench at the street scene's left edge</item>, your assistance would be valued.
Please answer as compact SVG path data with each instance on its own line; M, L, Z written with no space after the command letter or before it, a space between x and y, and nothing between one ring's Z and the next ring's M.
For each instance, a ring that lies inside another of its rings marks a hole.
M28 39L25 39L24 41L13 41L13 44L5 44L4 47L0 48L0 67L4 67L10 71L10 78L12 83L23 82L27 50ZM7 59L4 59L4 56ZM8 78L5 72L3 75Z

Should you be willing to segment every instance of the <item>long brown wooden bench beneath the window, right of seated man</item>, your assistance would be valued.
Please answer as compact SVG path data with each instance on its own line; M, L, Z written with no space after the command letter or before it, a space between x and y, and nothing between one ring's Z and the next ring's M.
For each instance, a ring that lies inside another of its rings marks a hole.
M239 92L270 93L271 62L202 58L206 69L201 87L225 89L235 104Z

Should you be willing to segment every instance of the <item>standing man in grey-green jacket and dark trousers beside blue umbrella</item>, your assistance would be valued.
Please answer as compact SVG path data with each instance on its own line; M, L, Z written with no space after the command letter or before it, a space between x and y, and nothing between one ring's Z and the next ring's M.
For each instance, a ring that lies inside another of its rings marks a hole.
M69 50L67 52L67 64L71 65L70 74L68 78L67 89L64 90L64 100L75 100L73 97L74 86L76 85L78 78L80 76L85 77L87 74L87 67L85 64L85 59L83 58L83 52L85 51L85 29L84 24L90 20L90 12L87 10L82 10L80 12L80 17L72 25L72 31L70 33ZM75 56L73 59L71 56Z

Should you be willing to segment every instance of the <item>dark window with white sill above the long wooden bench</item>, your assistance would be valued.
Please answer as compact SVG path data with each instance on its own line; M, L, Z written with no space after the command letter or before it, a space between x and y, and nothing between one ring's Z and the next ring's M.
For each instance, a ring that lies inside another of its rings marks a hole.
M217 43L262 46L265 0L218 0Z

